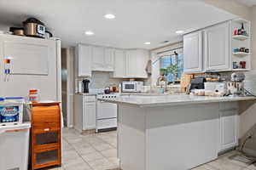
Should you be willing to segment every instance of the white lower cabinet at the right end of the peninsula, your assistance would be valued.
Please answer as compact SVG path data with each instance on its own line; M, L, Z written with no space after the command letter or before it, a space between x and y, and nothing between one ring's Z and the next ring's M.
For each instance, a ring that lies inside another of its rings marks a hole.
M226 105L225 110L220 107L219 111L219 151L229 150L230 148L236 147L238 145L238 130L239 130L239 115L237 109L237 103L224 103L220 105Z

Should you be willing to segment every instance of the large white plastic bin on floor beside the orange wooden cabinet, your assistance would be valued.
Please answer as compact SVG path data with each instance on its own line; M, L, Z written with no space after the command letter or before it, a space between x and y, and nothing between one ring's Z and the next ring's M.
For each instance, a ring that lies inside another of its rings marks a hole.
M0 169L27 170L29 122L13 126L0 126Z

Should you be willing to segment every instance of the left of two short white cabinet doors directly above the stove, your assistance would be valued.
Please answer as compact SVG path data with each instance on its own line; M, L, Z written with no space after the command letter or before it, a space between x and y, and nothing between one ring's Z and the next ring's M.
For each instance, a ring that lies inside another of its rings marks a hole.
M92 47L92 70L93 71L103 71L105 70L105 50L103 47Z

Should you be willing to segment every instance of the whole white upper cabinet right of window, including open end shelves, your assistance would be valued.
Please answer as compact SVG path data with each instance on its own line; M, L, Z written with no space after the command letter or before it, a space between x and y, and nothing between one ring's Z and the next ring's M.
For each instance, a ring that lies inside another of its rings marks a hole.
M241 23L245 27L247 36L234 36L234 32L241 28ZM249 21L236 19L185 35L183 37L184 71L188 73L249 71L250 53L239 50L248 48L251 51L250 27ZM246 66L242 66L241 61L246 62Z

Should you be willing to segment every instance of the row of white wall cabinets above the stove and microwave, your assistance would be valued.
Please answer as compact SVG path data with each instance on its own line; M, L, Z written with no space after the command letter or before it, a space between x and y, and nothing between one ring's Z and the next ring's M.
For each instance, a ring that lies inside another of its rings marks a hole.
M79 44L76 52L78 77L91 77L91 71L109 71L116 78L148 78L148 50Z

